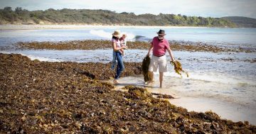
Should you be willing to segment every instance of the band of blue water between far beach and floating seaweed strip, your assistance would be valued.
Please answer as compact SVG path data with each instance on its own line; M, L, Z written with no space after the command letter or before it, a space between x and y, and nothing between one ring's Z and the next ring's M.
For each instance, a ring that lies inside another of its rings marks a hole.
M0 30L0 42L4 45L16 41L61 41L61 40L110 40L115 29L127 33L128 40L151 40L159 28L76 28ZM256 28L171 28L166 27L168 40L203 42L209 45L239 45L256 47ZM1 46L0 45L0 46Z

